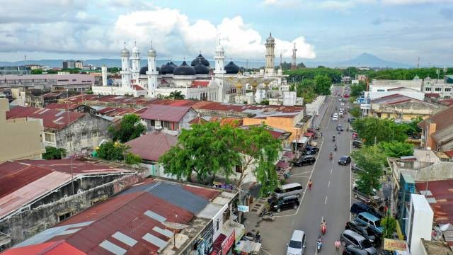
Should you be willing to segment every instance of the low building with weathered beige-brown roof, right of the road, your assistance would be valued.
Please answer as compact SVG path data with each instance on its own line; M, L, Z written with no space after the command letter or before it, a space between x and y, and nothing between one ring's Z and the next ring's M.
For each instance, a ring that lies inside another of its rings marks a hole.
M413 118L428 118L442 110L443 106L415 98L393 94L371 101L369 115L377 118L392 118L398 121L411 121Z

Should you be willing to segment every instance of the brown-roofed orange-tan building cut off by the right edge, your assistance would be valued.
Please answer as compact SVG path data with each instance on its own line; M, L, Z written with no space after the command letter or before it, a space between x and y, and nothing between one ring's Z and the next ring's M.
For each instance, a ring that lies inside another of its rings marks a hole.
M436 152L450 152L453 147L453 106L418 123L422 129L422 145Z

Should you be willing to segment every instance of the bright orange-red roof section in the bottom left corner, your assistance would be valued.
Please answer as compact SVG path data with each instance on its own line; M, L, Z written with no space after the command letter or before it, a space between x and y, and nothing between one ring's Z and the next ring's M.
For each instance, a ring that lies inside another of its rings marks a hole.
M29 246L22 246L17 248L11 248L3 253L2 255L25 255L25 254L40 254L40 255L85 255L86 253L76 249L76 247L68 244L67 242L45 242L42 244L33 244Z

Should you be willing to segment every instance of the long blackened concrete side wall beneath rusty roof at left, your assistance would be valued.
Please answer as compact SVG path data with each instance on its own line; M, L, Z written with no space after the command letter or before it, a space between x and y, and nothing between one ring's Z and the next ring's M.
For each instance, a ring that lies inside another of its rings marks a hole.
M49 196L53 196L53 198L44 197L31 204L31 210L23 210L18 215L1 220L0 232L10 235L12 244L17 244L47 228L57 225L59 223L59 214L71 212L71 215L75 215L91 207L93 203L104 200L142 180L142 176L135 174L117 177L113 181L109 180L110 182L104 181L102 176L84 178L83 183L97 181L102 184L91 190L78 191L76 196L69 196L71 194L71 183L69 182L61 188L63 192L57 193L57 196L52 193ZM42 201L46 203L42 204ZM38 207L35 205L38 205Z

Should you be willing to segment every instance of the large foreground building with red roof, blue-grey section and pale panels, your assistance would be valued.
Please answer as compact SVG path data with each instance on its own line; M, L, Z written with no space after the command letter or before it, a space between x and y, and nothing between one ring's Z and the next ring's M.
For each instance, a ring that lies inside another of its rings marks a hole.
M26 253L37 244L62 242L85 254L212 254L219 250L231 254L244 234L243 225L230 220L235 197L232 192L147 179L36 234L11 252Z

